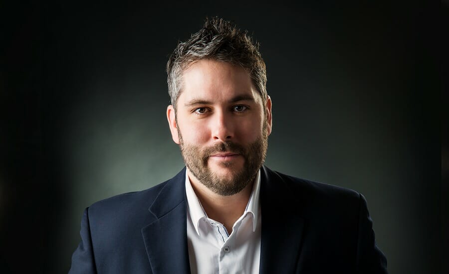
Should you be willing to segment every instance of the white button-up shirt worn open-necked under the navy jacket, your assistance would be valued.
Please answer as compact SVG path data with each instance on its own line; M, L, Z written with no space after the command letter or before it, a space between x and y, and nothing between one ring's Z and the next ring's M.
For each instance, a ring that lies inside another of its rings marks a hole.
M257 274L260 261L260 170L243 215L228 235L203 209L186 172L187 239L192 274Z

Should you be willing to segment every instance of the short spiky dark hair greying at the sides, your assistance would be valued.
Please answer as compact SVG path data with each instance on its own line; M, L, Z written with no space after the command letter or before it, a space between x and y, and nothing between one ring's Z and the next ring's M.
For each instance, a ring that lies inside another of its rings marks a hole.
M259 44L252 41L248 31L241 31L223 18L206 18L200 31L185 42L178 42L167 62L167 84L172 105L182 91L183 71L194 62L213 59L243 67L266 102L266 67L259 52Z

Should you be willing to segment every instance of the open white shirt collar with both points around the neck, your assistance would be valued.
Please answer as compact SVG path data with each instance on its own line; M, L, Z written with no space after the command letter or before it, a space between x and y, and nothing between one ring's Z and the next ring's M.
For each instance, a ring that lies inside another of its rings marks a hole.
M189 175L186 170L186 196L187 196L187 204L188 210L190 213L190 218L192 223L197 231L197 234L200 235L199 225L200 221L204 218L208 218L206 212L203 209L203 206L198 200L197 194L192 188L190 183ZM252 231L254 232L257 227L257 221L259 216L259 194L260 194L260 170L257 171L257 175L254 179L254 184L252 185L251 195L249 196L248 204L246 205L245 211L242 216L245 216L247 213L252 214Z

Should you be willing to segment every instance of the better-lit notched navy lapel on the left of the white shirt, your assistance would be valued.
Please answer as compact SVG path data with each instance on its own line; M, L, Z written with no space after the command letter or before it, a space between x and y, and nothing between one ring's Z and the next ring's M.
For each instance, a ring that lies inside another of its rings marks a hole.
M185 175L186 168L161 189L149 208L155 221L142 228L154 274L190 273Z

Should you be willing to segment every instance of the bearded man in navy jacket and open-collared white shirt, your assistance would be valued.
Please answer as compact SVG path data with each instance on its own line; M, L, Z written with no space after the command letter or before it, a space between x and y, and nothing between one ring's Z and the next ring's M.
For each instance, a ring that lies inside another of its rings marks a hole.
M87 208L70 273L387 273L361 194L262 165L271 99L246 32L207 19L167 73L186 168Z

